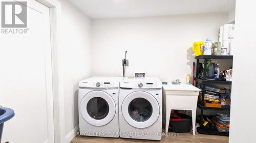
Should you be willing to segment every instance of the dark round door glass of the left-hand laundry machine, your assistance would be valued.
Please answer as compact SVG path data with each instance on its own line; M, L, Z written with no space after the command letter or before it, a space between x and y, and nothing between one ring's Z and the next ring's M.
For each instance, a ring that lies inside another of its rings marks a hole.
M87 103L87 112L93 119L101 120L108 115L109 104L103 98L94 97Z

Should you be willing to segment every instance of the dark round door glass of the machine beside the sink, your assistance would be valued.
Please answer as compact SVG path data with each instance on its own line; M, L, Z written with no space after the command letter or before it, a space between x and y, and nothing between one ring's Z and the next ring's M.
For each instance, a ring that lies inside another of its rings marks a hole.
M128 106L128 110L129 115L138 122L150 119L153 111L151 103L144 98L133 99Z

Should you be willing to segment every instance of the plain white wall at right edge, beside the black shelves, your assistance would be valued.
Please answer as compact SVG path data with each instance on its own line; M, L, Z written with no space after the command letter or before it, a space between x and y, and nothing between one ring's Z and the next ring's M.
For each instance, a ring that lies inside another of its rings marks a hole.
M236 1L229 142L255 142L256 2ZM246 70L245 70L246 69ZM251 122L252 120L252 122Z

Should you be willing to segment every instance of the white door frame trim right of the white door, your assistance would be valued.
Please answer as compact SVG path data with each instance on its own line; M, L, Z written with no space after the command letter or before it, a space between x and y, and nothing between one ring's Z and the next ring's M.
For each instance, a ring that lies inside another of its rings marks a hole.
M54 142L66 142L65 113L59 56L59 18L61 4L57 0L36 0L50 9L50 35L52 52Z

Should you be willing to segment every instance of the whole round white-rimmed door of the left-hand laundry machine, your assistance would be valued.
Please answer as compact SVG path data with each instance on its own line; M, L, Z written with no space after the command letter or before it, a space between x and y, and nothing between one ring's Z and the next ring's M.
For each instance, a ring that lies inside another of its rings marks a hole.
M82 98L80 113L89 124L103 126L114 118L116 104L108 93L91 91Z

